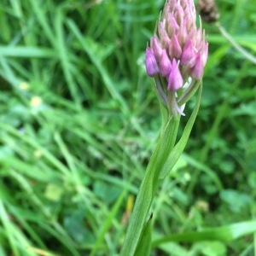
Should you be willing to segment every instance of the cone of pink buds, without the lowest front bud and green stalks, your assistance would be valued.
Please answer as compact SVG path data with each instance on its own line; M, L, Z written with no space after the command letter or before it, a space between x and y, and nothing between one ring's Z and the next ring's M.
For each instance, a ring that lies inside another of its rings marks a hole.
M151 51L149 53L149 50L146 50L149 76L156 73L166 76L170 66L166 60L172 62L176 59L176 62L180 63L179 73L183 79L201 79L207 61L208 44L201 28L201 20L199 28L196 27L195 21L193 0L166 1L154 37L150 40Z

